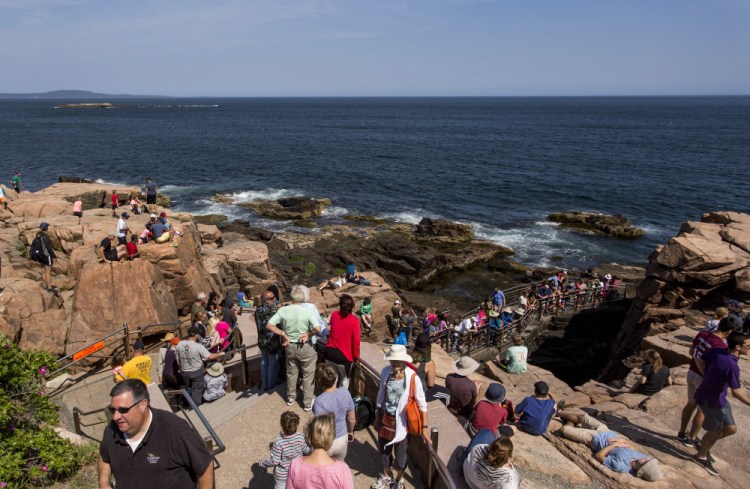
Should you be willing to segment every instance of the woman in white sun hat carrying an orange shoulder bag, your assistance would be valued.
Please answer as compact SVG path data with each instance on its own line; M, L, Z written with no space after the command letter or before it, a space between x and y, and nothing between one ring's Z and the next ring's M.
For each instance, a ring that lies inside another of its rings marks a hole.
M409 387L412 379L415 383L415 397L419 410L422 411L422 437L430 443L430 431L427 426L427 402L425 401L422 381L416 372L407 367L412 358L406 353L404 345L392 345L385 355L390 362L380 373L380 390L376 401L377 414L375 427L378 429L378 449L380 451L380 477L372 483L371 489L404 487L404 470L406 469L406 449L409 436L406 431L406 404L409 400Z

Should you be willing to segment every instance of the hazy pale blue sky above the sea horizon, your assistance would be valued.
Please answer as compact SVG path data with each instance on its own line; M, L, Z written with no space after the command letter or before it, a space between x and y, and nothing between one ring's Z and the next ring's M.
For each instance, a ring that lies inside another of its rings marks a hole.
M747 0L0 0L0 92L750 94Z

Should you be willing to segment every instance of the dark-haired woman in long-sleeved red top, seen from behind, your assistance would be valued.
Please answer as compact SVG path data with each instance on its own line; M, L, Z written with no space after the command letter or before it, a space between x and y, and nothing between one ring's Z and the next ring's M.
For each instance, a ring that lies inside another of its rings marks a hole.
M326 360L342 365L347 377L352 363L359 358L359 318L352 314L354 299L349 294L339 297L339 310L331 314L331 333L325 349Z

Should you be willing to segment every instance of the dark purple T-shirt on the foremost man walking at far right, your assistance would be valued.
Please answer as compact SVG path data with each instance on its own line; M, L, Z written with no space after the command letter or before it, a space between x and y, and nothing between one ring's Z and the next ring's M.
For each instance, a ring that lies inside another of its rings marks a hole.
M695 403L721 409L727 406L727 387L740 388L740 366L737 357L726 350L714 348L703 356L706 374L695 391Z

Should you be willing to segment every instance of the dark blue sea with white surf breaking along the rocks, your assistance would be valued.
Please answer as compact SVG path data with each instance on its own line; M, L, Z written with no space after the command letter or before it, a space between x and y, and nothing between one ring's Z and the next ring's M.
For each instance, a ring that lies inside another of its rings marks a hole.
M274 230L293 226L212 196L331 197L321 224L442 217L527 264L576 267L643 264L683 221L750 208L750 97L56 103L0 101L3 179L21 169L34 190L61 174L133 185L151 175L179 210ZM620 213L648 234L623 242L545 221L569 209Z

